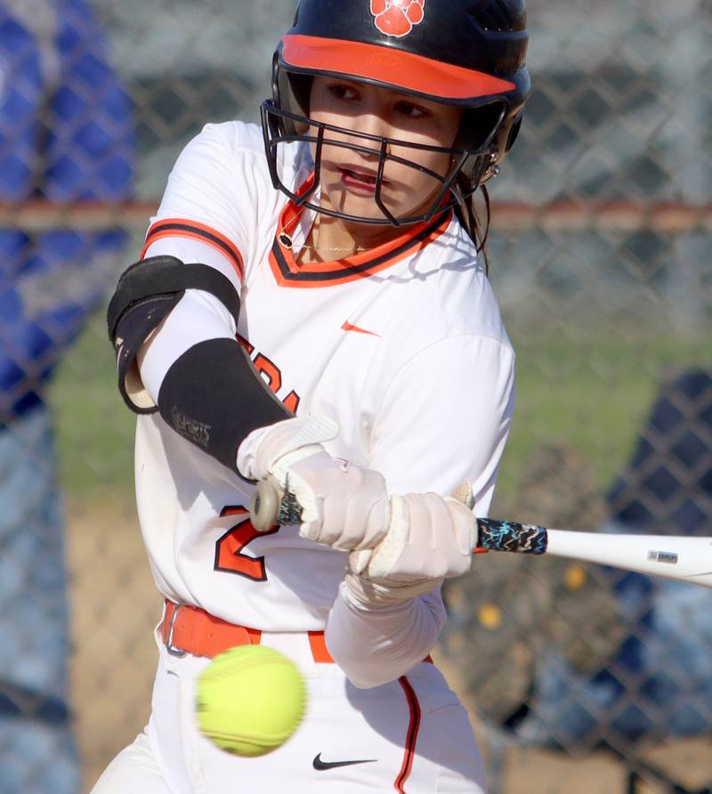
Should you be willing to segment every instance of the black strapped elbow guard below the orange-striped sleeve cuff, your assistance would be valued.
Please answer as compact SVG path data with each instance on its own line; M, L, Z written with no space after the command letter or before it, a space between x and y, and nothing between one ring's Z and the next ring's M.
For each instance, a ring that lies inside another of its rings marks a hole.
M237 325L239 296L223 273L205 264L184 264L174 256L152 256L132 264L118 280L109 302L109 339L117 357L118 390L136 413L157 410L142 397L136 353L150 332L166 319L186 289L214 295L231 312Z

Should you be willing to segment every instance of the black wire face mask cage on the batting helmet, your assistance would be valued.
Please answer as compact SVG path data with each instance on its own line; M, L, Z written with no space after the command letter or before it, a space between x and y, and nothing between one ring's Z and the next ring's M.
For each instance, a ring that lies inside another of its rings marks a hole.
M263 101L260 106L260 112L262 116L264 149L270 169L271 182L275 189L281 190L281 192L287 195L289 199L295 203L296 207L306 207L315 212L331 215L353 223L405 226L411 223L430 221L434 215L439 215L449 210L450 207L461 204L464 198L472 195L480 184L483 174L485 174L487 169L497 160L497 149L491 144L501 123L499 120L490 134L485 136L484 141L481 142L481 145L478 146L477 149L453 149L400 141L394 138L385 138L381 135L360 133L352 129L324 124L281 109L272 100ZM334 134L336 134L336 136L347 136L349 140L344 141L343 137L340 140L338 137L334 137ZM313 146L313 182L308 190L304 190L299 194L290 190L290 188L282 182L279 178L277 167L279 145L295 142L306 143ZM382 217L372 218L364 215L348 215L339 210L320 207L318 202L312 200L320 189L321 153L324 146L351 150L372 158L378 158L374 203L382 213ZM392 155L390 150L395 148L399 150L412 150L414 152L421 151L448 154L451 166L448 173L443 176L420 165L414 160ZM428 177L432 178L434 182L438 183L438 190L433 194L433 199L424 212L419 215L396 217L386 206L383 197L383 186L384 168L388 162L413 168L421 174L426 174ZM470 189L463 189L461 183L456 184L459 174L465 174L466 183L470 185Z

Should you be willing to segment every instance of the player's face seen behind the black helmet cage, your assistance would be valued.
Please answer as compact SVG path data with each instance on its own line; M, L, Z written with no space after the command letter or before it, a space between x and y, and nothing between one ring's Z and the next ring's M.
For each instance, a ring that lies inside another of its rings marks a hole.
M462 111L437 102L336 77L314 77L310 117L344 127L353 134L328 131L326 138L374 149L373 154L325 144L321 151L321 205L346 215L383 218L376 205L378 144L358 133L379 135L426 146L450 147L455 141ZM312 144L312 154L315 146ZM425 166L441 177L452 165L447 152L390 145L391 157ZM396 218L419 215L432 206L442 183L416 167L387 158L381 199Z

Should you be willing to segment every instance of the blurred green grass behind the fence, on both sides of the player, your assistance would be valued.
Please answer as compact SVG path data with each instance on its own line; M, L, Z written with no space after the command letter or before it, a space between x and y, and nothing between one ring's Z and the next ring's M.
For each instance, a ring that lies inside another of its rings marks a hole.
M510 323L511 326L511 323ZM517 350L517 409L498 484L513 498L539 450L585 459L605 490L625 465L659 381L712 366L708 340L669 329L510 328ZM117 392L103 318L62 362L52 389L61 480L70 498L133 498L134 415Z

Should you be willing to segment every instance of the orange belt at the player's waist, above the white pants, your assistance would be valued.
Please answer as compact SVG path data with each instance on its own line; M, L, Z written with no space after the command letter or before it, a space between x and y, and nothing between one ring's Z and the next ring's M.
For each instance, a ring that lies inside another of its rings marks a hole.
M308 631L309 645L314 661L320 664L333 664L334 660L327 650L323 631ZM207 656L212 659L218 653L234 648L235 645L259 645L262 631L247 628L216 618L210 612L192 604L174 604L166 598L166 614L161 621L161 637L166 649L174 656ZM432 662L430 656L424 661Z

